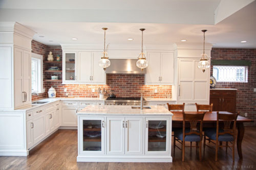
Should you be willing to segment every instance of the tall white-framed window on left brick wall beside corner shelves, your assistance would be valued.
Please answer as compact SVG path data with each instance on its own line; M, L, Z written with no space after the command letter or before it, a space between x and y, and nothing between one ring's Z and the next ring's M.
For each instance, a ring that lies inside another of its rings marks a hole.
M31 57L31 88L32 93L43 92L42 89L42 56L32 53Z

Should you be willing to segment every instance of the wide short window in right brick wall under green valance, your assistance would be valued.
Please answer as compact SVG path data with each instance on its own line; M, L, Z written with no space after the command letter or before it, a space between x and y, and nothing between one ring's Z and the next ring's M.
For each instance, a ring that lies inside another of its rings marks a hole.
M248 66L215 65L213 76L217 82L247 82Z

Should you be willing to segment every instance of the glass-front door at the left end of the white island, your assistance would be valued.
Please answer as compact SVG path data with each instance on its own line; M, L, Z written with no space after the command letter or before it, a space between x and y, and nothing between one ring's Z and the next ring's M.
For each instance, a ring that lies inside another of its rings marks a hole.
M104 117L80 117L79 123L80 154L103 155L105 133Z

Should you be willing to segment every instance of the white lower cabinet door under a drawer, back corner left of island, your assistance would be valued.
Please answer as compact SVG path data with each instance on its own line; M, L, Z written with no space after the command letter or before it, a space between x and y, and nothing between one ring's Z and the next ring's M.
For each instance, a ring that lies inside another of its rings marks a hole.
M78 107L62 107L61 126L77 126L77 112Z

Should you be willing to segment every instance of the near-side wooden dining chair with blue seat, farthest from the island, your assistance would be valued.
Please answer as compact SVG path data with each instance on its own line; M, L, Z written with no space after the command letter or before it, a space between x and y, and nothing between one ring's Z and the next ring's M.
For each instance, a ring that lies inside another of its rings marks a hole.
M204 132L204 150L205 150L205 141L206 140L216 140L215 145L215 161L218 160L218 149L220 147L227 148L232 147L232 156L234 161L234 142L236 140L236 124L237 118L240 112L236 114L225 114L217 112L217 128L216 129L208 129ZM208 139L206 138L208 137ZM226 145L220 145L219 141L226 142ZM228 142L232 145L229 146ZM214 142L212 142L214 143Z

